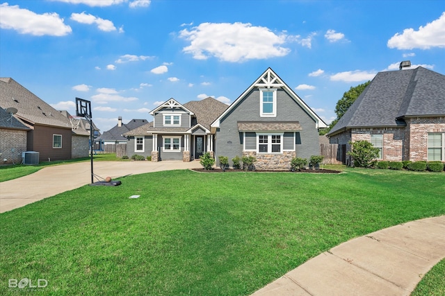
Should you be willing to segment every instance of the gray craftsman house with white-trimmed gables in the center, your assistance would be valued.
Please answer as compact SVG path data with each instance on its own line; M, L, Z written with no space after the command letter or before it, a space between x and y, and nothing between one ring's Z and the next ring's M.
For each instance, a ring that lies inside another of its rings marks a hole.
M150 114L152 123L124 136L127 155L151 155L152 162L189 162L209 152L229 160L253 155L257 168L289 168L292 157L319 154L318 129L326 127L270 68L230 106L170 98Z

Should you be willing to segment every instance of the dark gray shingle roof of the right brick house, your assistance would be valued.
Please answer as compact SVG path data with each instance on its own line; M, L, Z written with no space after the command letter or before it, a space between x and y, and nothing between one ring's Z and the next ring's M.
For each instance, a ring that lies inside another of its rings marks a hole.
M445 115L445 76L423 67L379 72L328 135L350 128L397 127L407 116Z

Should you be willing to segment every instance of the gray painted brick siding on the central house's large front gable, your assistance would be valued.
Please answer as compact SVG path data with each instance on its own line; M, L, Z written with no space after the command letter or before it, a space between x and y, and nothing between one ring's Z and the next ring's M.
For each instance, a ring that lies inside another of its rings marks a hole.
M232 158L236 155L240 157L243 155L243 143L238 136L238 121L298 121L302 130L300 130L301 141L295 145L296 156L309 158L311 155L319 154L316 123L289 94L283 89L277 90L276 117L261 117L259 115L259 100L260 91L258 88L254 88L220 120L220 128L216 132L218 155L229 157L229 162L232 162ZM247 141L246 139L246 148L251 147L251 143L247 143ZM286 147L289 148L288 142L286 142ZM254 149L256 149L256 142Z

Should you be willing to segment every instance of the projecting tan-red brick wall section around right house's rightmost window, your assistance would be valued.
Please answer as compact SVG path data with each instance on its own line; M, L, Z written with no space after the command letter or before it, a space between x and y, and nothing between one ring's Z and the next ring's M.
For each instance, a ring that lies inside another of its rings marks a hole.
M428 160L428 132L445 132L445 117L415 117L405 121L410 139L410 160Z

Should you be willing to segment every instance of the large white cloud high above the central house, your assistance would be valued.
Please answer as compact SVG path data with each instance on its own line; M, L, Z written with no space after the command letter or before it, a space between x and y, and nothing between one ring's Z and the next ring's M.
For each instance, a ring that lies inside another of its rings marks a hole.
M190 42L184 47L197 60L213 56L225 62L243 62L287 55L291 50L281 45L286 35L277 35L266 27L236 22L234 24L202 23L184 29L179 37Z

